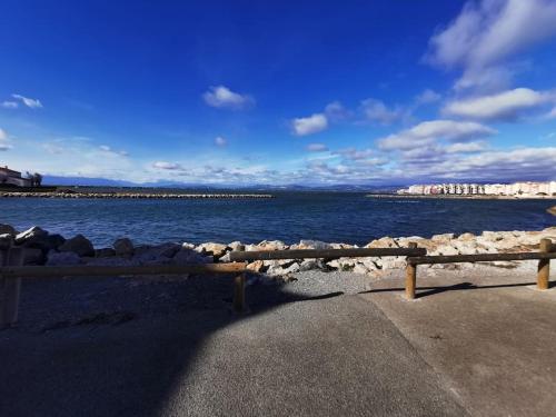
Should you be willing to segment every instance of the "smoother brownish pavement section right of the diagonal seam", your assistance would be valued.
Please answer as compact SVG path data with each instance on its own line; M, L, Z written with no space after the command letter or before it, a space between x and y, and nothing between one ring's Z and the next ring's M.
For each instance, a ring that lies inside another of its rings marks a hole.
M398 275L364 297L474 415L556 416L556 288L537 291L535 278L438 271L418 279L429 288L406 301L389 290L403 287Z

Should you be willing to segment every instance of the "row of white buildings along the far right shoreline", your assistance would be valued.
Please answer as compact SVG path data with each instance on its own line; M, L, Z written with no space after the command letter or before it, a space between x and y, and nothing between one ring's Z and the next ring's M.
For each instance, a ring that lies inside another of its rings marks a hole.
M400 189L398 195L454 195L454 196L556 196L556 181L523 181L514 183L433 183Z

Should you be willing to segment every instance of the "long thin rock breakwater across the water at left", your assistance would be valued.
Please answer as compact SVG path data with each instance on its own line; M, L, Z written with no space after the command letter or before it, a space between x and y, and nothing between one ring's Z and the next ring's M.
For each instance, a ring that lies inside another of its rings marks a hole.
M274 198L268 193L147 193L147 192L18 192L4 191L0 192L0 197L4 198L98 198L98 199L256 199L256 198Z

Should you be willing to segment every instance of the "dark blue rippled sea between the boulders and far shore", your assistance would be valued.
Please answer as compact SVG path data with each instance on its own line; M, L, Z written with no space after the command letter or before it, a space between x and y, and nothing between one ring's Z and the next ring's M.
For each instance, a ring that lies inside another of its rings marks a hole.
M383 236L556 226L555 200L369 198L365 193L284 192L256 200L0 199L0 222L38 225L64 237L83 234L96 246L121 236L163 241L296 242L317 239L364 245Z

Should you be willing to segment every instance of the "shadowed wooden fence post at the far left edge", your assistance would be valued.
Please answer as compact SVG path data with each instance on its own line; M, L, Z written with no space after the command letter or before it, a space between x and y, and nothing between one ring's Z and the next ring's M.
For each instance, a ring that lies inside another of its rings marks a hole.
M0 250L0 265L4 267L23 265L23 249ZM0 328L13 326L18 321L20 291L21 278L0 276Z

